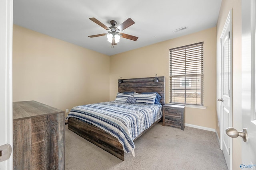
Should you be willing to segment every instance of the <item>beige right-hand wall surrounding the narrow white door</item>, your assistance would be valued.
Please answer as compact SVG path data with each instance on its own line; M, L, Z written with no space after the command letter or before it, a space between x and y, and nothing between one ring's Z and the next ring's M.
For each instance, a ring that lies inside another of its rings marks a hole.
M242 129L242 106L241 106L241 70L242 70L242 52L241 52L241 40L242 40L242 11L241 0L222 0L220 8L220 14L216 26L217 34L217 49L220 47L220 36L226 22L229 11L232 10L232 38L233 38L233 127L236 129ZM217 52L217 59L220 59L220 52ZM216 119L217 120L217 119ZM216 128L218 135L220 135L220 129ZM241 145L242 140L234 138L233 140L233 169L240 169L241 158Z

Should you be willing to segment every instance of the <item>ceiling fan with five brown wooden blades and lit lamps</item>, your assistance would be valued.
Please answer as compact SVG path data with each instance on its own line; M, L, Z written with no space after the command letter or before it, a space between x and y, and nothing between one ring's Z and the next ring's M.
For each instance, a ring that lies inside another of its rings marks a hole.
M89 18L90 20L94 21L96 24L100 25L102 28L108 30L108 33L102 33L102 34L97 34L97 35L90 35L88 37L93 38L93 37L100 37L100 36L104 36L107 35L108 41L111 43L111 45L116 45L116 43L119 42L120 37L122 38L126 38L126 39L131 39L133 41L136 41L138 39L138 37L135 37L133 35L129 35L129 34L125 34L125 33L120 33L120 31L123 31L124 29L130 27L131 25L133 25L135 22L128 18L126 21L124 21L123 23L121 23L118 27L116 27L116 21L111 20L110 24L112 26L107 27L106 25L104 25L102 22L100 22L99 20L97 20L96 18Z

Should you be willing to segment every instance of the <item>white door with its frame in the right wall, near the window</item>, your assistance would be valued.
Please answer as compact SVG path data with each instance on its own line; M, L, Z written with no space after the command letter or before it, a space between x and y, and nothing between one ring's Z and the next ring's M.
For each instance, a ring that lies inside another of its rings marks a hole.
M232 140L225 133L226 128L232 127L232 43L230 36L232 35L231 18L232 11L230 11L228 14L222 35L220 36L222 87L221 96L218 99L218 102L222 102L220 105L222 115L222 123L220 127L221 149L224 154L228 169L232 169Z

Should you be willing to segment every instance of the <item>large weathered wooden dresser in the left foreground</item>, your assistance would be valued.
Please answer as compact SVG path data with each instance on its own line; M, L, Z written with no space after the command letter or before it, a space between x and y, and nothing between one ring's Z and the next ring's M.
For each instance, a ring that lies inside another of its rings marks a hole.
M13 169L64 170L64 111L13 102Z

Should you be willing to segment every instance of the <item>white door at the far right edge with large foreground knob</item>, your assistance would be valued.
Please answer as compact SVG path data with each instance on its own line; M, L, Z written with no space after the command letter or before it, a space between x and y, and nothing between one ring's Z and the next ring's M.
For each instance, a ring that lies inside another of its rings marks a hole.
M240 168L253 170L256 170L255 24L255 0L242 0L242 128L246 128L248 139L242 142Z

